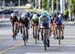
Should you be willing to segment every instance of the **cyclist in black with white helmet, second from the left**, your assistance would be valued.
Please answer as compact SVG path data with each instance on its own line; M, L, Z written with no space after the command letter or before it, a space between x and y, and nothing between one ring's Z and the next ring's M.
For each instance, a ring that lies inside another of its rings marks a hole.
M26 15L26 13L22 13L19 22L25 26L26 32L27 32L27 40L28 40L28 29L29 29L30 20L28 16Z

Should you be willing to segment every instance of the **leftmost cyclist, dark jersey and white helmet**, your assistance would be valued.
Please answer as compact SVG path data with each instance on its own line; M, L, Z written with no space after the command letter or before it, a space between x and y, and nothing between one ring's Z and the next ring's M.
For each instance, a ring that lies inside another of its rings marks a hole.
M18 18L15 15L15 13L11 13L11 17L10 17L10 21L11 21L11 25L12 25L12 33L13 33L13 38L15 38L16 34L15 34L15 30L18 26Z

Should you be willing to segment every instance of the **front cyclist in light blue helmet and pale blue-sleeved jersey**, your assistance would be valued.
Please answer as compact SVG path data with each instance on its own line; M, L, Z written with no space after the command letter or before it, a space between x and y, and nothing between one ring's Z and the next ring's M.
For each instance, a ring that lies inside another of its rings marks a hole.
M40 28L50 28L50 15L46 11L42 12L39 17L39 26ZM47 36L47 42L49 46L49 36Z

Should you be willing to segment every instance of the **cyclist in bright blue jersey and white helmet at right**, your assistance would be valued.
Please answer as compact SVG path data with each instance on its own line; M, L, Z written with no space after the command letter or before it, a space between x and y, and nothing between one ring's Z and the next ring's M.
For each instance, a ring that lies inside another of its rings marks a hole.
M64 24L63 24L63 20L62 20L61 14L58 14L58 17L57 17L57 19L56 19L56 25L57 25L57 27L58 27L58 26L61 26L62 39L64 39ZM57 33L57 30L56 30L56 33ZM57 39L58 39L58 38L59 38L59 37L57 36Z

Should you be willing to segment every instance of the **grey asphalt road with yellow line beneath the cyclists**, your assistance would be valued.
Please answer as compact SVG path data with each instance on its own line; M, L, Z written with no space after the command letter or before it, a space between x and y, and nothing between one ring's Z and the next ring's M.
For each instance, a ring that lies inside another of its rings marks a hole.
M58 44L58 40L50 38L50 47L44 51L41 40L35 44L32 29L29 29L29 40L24 46L22 35L13 40L9 21L0 22L0 54L75 54L75 24L65 24L65 39Z

